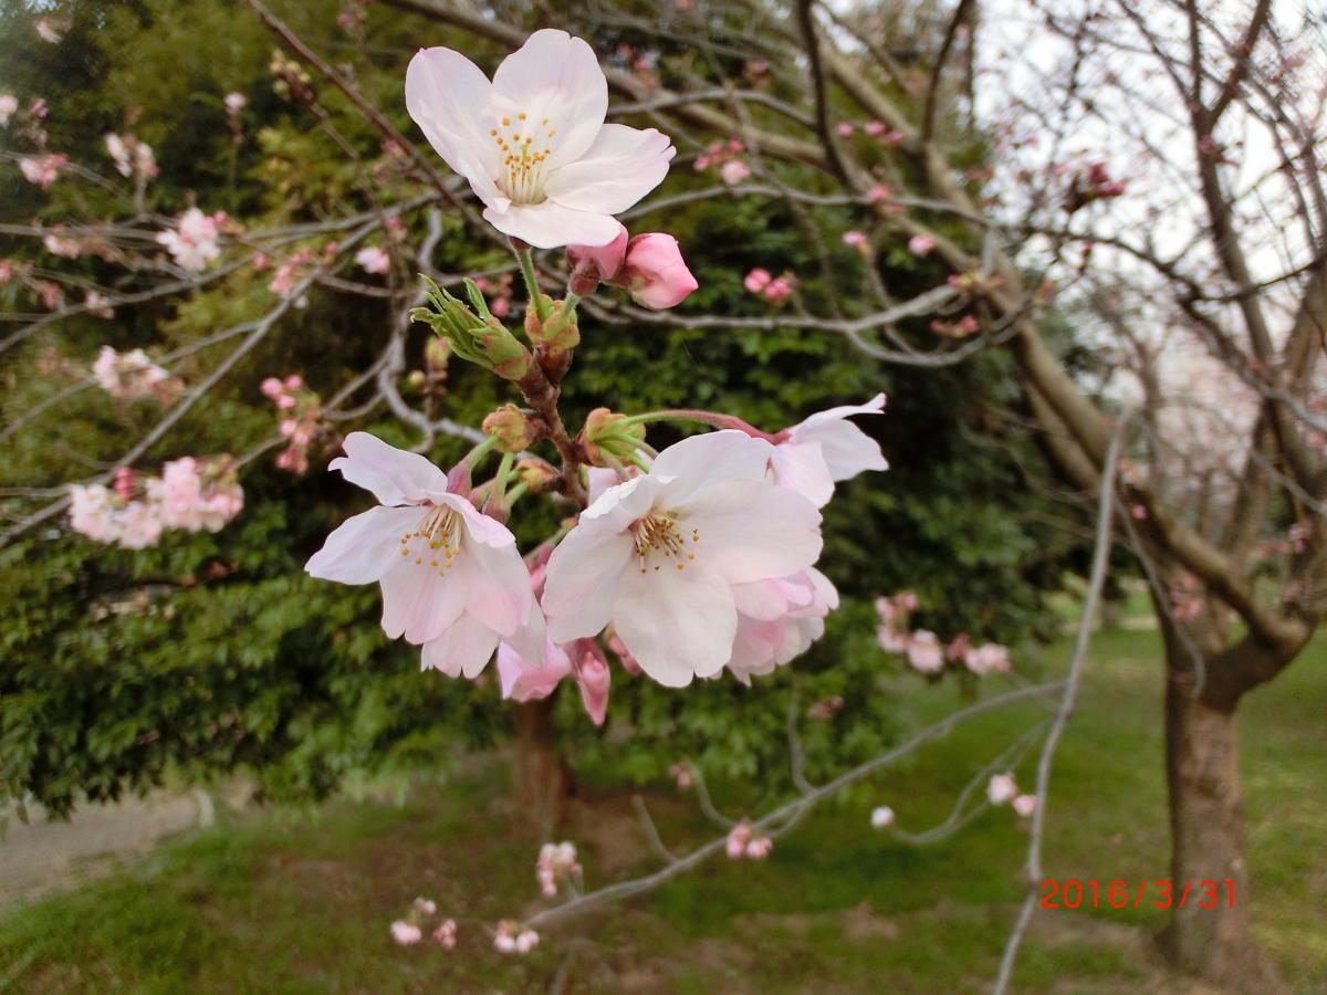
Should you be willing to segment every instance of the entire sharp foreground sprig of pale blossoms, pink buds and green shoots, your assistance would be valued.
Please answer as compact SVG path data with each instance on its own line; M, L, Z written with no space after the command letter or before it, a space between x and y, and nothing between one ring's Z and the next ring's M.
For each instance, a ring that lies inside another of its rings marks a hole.
M384 630L419 646L425 669L474 679L496 655L502 693L515 700L575 679L596 723L609 698L605 647L670 687L725 670L748 682L804 651L839 600L815 569L820 508L837 482L888 466L848 418L881 413L884 395L775 434L721 413L597 409L572 438L556 401L580 342L580 298L610 283L667 308L697 287L673 236L630 237L612 216L658 184L671 143L605 125L593 52L557 31L532 34L492 81L456 52L425 49L410 64L406 105L470 180L484 218L512 236L531 292L515 330L475 280L463 281L467 300L430 281L429 306L411 318L531 407L494 411L486 440L446 472L352 432L330 468L380 504L342 523L307 570L378 584ZM564 300L543 293L531 245L567 247ZM656 451L646 423L671 418L717 431ZM561 470L528 454L545 440ZM496 474L476 483L494 452ZM512 504L553 490L583 509L527 560L507 528Z

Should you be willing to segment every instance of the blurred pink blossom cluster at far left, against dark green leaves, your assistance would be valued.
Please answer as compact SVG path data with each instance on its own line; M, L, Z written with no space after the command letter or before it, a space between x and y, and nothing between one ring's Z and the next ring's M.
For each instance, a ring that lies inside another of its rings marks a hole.
M244 505L228 456L184 456L166 463L161 478L121 467L114 487L74 484L69 496L74 532L125 549L157 545L166 529L218 532Z

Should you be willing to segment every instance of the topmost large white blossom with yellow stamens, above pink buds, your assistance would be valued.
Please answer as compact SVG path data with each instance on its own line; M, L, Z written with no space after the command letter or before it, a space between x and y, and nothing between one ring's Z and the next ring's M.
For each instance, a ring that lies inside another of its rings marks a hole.
M612 241L613 215L657 187L675 154L654 129L604 123L604 72L563 31L531 34L492 82L459 52L423 49L406 72L406 107L484 219L537 248Z

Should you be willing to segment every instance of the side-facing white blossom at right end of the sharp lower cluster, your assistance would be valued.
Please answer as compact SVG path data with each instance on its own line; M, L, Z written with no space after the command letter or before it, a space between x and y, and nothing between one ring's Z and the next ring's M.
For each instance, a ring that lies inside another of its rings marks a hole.
M836 482L867 470L889 470L880 443L848 421L851 415L884 410L885 395L876 394L865 405L831 407L784 429L770 458L772 478L823 508Z

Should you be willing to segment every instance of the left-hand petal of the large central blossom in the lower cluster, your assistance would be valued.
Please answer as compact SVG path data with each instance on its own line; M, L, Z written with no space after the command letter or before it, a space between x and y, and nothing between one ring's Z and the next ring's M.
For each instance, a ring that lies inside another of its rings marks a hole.
M618 578L636 544L625 532L596 532L577 525L548 559L543 606L548 637L571 642L597 635L613 613Z

